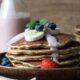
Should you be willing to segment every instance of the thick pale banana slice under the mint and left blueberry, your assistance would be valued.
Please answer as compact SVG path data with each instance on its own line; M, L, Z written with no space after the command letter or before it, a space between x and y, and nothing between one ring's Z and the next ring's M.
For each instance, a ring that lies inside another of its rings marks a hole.
M37 41L44 37L44 31L25 29L24 36L26 41Z

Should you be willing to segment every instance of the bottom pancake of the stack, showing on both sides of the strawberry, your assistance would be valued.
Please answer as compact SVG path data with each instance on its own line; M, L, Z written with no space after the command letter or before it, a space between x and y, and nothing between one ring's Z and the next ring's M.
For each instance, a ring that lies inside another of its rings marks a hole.
M10 62L12 63L12 65L14 67L18 67L18 68L28 68L28 69L36 69L36 68L40 68L40 64L41 61L29 61L29 62L24 62L24 61L19 61L19 60L13 60L10 59ZM59 61L58 65L60 67L70 67L70 66L76 66L75 64L79 64L80 63L80 57L77 58L73 58L73 59L68 59L68 60L64 60L64 61Z

